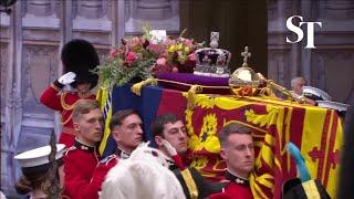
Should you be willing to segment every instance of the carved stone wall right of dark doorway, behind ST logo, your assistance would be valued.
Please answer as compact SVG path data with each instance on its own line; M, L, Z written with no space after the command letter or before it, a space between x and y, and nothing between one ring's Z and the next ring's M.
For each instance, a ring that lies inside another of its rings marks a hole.
M302 42L285 42L287 35L294 34L285 27L291 15L322 22L322 29L315 28L316 49L304 49L305 28ZM310 85L327 92L334 101L354 103L354 1L271 0L268 17L268 76L285 87L290 87L292 77L304 76Z

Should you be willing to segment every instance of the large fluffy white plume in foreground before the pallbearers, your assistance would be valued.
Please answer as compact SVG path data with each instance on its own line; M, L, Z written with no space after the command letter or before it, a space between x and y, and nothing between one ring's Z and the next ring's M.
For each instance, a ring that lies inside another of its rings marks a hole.
M164 166L164 154L147 144L107 174L100 199L185 199L176 176Z

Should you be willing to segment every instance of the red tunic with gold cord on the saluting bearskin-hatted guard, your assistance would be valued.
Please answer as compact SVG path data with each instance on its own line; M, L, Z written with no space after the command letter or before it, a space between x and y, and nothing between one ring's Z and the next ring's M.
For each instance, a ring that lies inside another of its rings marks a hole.
M72 121L72 111L75 103L81 98L95 100L94 94L85 97L80 97L77 92L60 92L61 88L51 84L41 95L41 103L51 109L59 111L62 115L62 134L60 135L59 143L71 147L74 144L75 130Z

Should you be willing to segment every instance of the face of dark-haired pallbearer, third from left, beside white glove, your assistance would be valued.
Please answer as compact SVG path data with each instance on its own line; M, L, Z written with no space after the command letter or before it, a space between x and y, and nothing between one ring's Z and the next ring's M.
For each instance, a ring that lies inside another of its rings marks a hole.
M176 148L177 154L184 155L187 151L187 133L181 121L164 125L164 137Z

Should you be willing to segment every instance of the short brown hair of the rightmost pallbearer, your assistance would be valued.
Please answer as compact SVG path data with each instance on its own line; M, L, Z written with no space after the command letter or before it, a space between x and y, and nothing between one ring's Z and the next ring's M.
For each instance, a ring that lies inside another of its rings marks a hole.
M252 129L247 127L246 125L239 124L239 123L230 123L223 126L223 128L220 132L220 143L221 147L227 146L227 139L232 134L252 134Z

